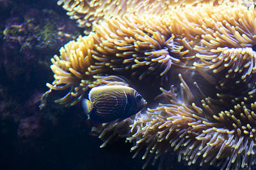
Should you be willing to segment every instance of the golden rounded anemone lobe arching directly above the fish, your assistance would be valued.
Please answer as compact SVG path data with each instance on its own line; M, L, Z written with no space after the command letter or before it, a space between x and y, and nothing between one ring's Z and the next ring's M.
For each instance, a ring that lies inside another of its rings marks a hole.
M147 23L150 20L156 25ZM112 18L95 25L95 32L62 47L60 57L51 59L55 80L47 84L54 90L70 88L58 102L76 104L88 88L99 85L98 76L124 76L129 80L138 75L142 80L149 74L166 75L172 65L193 68L186 66L195 58L188 50L193 42L175 38L168 28L169 20L157 15L151 15L150 20L135 15Z

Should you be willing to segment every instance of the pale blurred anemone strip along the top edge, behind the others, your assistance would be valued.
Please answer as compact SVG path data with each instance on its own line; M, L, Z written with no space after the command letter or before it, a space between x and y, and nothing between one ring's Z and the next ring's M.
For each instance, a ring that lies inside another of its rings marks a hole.
M179 1L152 1L152 0L59 0L58 5L67 10L70 18L77 20L79 27L84 27L84 33L89 34L93 24L99 24L104 20L109 20L116 16L122 17L127 13L135 13L136 15L164 15L172 13L173 8L184 8L186 6L197 6L201 4L218 5L228 3L229 6L234 4L243 4L248 6L252 4L252 0L179 0Z

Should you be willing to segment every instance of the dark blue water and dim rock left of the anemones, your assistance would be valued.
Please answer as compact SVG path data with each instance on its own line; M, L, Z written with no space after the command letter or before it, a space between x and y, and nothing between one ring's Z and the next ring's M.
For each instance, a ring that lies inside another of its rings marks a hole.
M141 169L124 139L99 148L81 104L55 104L54 92L38 107L51 57L83 35L57 0L0 0L0 20L0 169Z

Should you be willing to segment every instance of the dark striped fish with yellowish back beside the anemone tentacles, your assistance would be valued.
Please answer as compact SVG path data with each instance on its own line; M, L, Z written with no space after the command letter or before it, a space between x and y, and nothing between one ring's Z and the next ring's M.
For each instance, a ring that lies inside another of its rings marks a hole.
M125 119L147 104L136 90L123 85L93 87L88 98L82 101L84 112L96 124Z

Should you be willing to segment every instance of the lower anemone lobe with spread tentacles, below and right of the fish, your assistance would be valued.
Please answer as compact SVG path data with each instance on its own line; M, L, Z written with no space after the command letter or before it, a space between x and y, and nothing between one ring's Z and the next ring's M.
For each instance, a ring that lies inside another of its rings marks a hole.
M162 89L163 96L170 98L169 103L148 109L146 115L138 115L131 125L127 141L134 143L131 151L136 150L135 156L145 149L142 159L148 158L143 167L150 160L155 164L161 157L159 169L162 169L164 157L172 152L177 154L179 162L184 160L189 166L206 164L240 169L255 164L256 103L227 106L206 97L196 105L185 99L195 97L190 96L192 92L184 88L187 85L182 81L182 104L176 99L173 87L170 91Z

